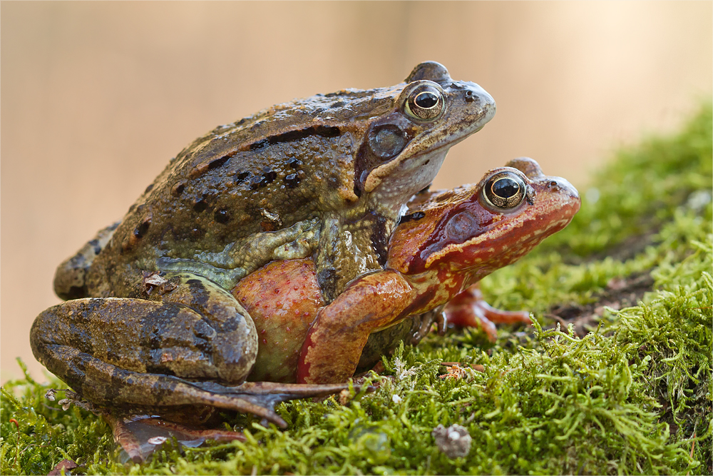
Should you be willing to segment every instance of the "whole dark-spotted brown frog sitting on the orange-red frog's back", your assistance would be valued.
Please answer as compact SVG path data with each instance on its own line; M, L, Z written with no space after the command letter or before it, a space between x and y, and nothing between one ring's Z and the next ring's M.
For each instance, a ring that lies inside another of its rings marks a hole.
M428 62L396 86L297 99L216 128L60 265L55 289L71 300L36 319L36 358L98 405L162 415L208 405L284 425L275 392L307 394L237 386L258 335L229 290L270 260L312 255L329 302L380 269L404 204L494 112L479 86Z

